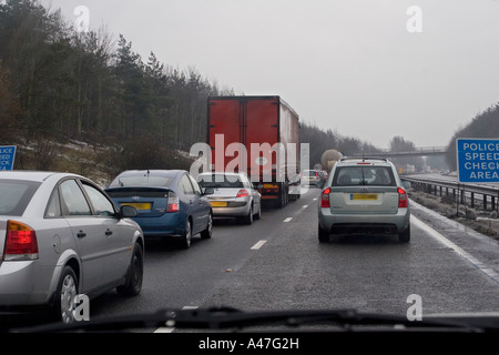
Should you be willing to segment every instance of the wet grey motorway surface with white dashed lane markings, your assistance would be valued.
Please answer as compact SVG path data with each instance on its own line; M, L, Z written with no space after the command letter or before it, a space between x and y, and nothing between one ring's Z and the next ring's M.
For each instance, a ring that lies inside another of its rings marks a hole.
M91 318L161 307L245 311L354 307L406 315L411 294L422 315L499 311L499 244L411 203L411 241L355 236L319 244L310 190L282 210L242 225L215 221L211 240L190 250L149 240L140 296L110 292Z

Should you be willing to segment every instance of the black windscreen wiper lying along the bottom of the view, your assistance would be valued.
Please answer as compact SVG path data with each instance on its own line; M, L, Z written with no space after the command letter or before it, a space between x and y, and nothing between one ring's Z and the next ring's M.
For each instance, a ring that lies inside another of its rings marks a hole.
M363 331L364 326L376 326L380 331L449 331L449 332L487 332L499 331L499 325L488 323L492 327L475 325L475 323L446 317L434 317L422 321L409 321L407 317L360 313L356 310L313 310L313 311L263 311L243 312L232 307L212 307L196 310L161 310L152 314L100 317L88 322L71 324L48 324L26 328L17 328L14 333L53 333L53 332L103 332L133 328L175 327L187 329L243 329L252 326L334 325L337 331ZM373 331L373 328L369 328Z

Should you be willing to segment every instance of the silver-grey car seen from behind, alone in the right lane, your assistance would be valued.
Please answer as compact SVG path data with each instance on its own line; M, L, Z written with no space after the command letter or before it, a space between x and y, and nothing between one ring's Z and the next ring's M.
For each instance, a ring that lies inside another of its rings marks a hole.
M409 200L387 159L344 158L333 168L318 203L318 240L330 234L397 234L410 240Z

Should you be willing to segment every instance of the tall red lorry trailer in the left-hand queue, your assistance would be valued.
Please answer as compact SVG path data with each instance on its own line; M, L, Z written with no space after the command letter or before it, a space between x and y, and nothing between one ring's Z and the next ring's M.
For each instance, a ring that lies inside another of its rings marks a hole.
M298 114L279 97L211 97L207 144L212 171L244 171L264 201L299 197Z

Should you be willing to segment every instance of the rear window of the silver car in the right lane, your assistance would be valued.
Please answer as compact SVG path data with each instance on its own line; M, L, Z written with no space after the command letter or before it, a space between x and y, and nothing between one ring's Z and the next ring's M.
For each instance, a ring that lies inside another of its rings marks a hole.
M336 169L333 186L396 186L394 173L388 166L342 166Z

